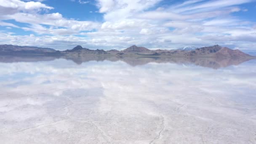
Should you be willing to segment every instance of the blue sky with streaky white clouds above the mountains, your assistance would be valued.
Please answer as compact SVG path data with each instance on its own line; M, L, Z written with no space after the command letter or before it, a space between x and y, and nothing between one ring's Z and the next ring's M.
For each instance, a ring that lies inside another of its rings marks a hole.
M0 44L256 51L256 0L0 0Z

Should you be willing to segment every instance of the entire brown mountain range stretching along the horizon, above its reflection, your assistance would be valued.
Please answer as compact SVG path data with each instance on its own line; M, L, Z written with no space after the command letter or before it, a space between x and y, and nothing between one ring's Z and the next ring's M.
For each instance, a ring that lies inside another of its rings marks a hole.
M165 57L213 57L213 58L235 58L248 57L253 58L239 50L232 50L227 47L213 45L203 48L183 48L177 50L149 50L145 47L132 45L122 51L117 50L91 50L77 45L71 50L56 51L52 48L40 48L31 46L17 45L0 45L0 54L41 54L41 55L66 55L66 56L83 56L83 55L104 55L104 56L165 56Z

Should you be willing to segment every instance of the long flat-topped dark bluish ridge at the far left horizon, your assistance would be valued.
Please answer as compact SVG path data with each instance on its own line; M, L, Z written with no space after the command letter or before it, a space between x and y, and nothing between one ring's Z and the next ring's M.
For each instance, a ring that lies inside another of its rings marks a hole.
M0 53L53 53L52 48L40 48L34 46L0 45Z

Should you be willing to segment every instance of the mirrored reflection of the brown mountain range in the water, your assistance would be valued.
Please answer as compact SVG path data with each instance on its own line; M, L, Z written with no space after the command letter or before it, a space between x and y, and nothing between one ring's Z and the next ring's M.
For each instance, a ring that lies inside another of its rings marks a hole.
M151 62L155 63L174 63L174 64L194 64L201 67L219 69L231 65L239 65L250 58L198 58L198 57L117 57L117 56L43 56L43 55L19 55L19 56L0 56L0 62L36 62L53 61L55 59L72 60L76 64L88 61L124 61L131 66L144 65Z

